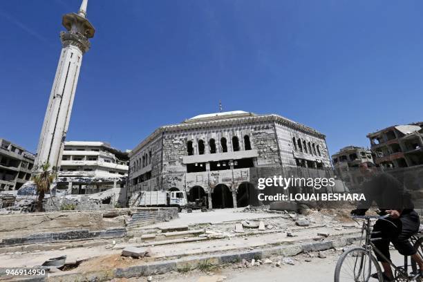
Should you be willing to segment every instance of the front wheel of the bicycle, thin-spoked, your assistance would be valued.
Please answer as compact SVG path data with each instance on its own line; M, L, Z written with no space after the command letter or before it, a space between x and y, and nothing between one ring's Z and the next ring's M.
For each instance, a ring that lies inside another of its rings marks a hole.
M373 279L372 274L377 278ZM335 267L335 282L383 282L382 270L375 257L363 247L353 247L339 257Z

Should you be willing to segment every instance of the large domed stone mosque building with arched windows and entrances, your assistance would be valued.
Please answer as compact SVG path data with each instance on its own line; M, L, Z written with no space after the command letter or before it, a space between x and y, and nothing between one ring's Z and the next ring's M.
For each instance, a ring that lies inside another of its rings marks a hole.
M325 177L332 170L325 135L280 115L245 111L161 126L129 158L129 197L180 190L189 201L207 196L209 208L253 204L257 178Z

